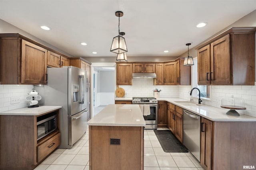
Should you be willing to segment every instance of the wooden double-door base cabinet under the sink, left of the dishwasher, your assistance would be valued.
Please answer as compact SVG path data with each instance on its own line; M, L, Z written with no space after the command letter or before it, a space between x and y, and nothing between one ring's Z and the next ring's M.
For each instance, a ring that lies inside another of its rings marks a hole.
M170 131L183 142L183 109L174 104L168 103L169 125Z

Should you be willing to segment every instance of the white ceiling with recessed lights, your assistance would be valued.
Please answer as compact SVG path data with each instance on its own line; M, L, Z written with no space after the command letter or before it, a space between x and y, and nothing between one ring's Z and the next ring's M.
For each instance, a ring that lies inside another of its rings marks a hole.
M118 10L127 56L179 56L256 10L256 0L0 0L0 19L74 57L116 56Z

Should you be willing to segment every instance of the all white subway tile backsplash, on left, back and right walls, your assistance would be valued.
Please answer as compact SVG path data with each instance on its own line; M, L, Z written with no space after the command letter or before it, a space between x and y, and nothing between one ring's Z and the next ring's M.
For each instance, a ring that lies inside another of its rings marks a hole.
M182 98L190 100L191 86L155 86L151 78L134 78L132 86L119 86L127 92L127 97L153 97L154 89L161 90L160 98ZM27 107L26 96L34 85L0 85L0 112ZM219 107L222 98L242 100L246 110L239 113L256 117L256 86L211 86L211 100L203 100L202 104ZM12 97L19 97L20 103L11 104ZM194 98L194 101L197 101Z

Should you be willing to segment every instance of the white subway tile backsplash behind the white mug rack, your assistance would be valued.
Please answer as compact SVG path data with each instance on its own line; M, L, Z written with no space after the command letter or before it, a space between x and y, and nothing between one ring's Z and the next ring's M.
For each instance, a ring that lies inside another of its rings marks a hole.
M27 107L26 97L32 88L33 85L0 85L0 112ZM12 97L19 97L20 103L11 104Z

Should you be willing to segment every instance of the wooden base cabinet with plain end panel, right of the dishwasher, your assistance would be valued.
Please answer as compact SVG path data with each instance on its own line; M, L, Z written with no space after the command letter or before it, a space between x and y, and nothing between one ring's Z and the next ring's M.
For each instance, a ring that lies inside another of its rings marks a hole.
M256 162L256 123L201 117L200 164L205 170L240 170Z

